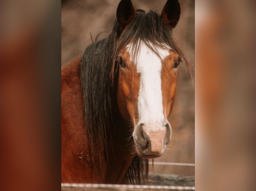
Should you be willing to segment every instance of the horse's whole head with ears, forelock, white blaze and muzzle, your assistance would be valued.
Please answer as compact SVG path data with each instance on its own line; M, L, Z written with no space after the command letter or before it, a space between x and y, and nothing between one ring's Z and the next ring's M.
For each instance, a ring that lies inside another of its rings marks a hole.
M122 117L133 124L136 152L143 158L161 156L171 140L167 119L182 58L171 32L179 16L178 0L168 0L158 16L154 11L136 13L130 0L117 8L117 103Z

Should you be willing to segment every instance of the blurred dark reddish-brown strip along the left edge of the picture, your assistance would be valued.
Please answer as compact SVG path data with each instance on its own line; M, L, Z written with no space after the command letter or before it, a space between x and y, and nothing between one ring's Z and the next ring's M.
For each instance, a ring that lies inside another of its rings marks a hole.
M61 5L0 1L0 190L60 189Z

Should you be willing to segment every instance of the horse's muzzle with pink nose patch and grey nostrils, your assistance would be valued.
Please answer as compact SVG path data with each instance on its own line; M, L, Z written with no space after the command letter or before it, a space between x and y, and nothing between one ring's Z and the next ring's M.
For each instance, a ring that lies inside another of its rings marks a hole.
M133 133L136 152L143 158L157 158L163 154L166 144L171 139L171 125L167 122L163 127L152 128L152 125L140 123Z

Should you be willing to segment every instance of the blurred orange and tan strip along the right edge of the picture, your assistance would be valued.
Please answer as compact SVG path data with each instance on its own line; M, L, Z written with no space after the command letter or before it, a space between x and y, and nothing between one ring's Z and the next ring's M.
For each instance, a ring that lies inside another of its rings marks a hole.
M196 189L255 190L255 1L196 0Z

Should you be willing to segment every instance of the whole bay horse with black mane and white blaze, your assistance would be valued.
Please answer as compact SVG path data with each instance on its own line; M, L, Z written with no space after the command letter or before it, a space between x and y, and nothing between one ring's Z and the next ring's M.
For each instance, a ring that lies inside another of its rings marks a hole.
M178 0L161 14L121 0L109 35L61 71L61 182L145 184L148 160L171 140Z

